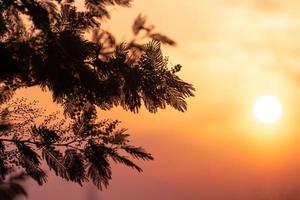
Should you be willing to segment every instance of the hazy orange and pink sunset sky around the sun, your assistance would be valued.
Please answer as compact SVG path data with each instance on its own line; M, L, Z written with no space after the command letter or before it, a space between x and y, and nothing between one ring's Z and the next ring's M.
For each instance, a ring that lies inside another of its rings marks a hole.
M113 167L103 191L50 177L29 181L30 200L276 200L300 188L300 2L297 0L135 0L113 7L105 27L119 41L131 37L143 13L156 30L178 45L163 47L170 65L196 88L188 110L132 114L115 108L99 116L117 118L133 144L155 157L138 162L139 174ZM19 91L47 105L50 94ZM252 111L261 95L276 96L283 115L263 124ZM53 105L49 108L54 107ZM300 192L300 191L299 191ZM300 194L300 193L299 193Z

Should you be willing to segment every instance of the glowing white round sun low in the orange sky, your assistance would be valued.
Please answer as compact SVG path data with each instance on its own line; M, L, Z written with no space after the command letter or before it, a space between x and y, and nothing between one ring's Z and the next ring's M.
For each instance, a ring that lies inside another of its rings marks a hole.
M276 122L282 114L280 101L274 96L261 96L253 106L255 117L263 123Z

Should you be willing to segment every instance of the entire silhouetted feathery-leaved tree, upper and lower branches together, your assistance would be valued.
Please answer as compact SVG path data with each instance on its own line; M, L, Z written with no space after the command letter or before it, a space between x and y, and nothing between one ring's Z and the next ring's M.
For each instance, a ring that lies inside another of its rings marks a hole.
M155 113L170 105L183 112L185 98L193 96L193 86L176 74L181 66L169 68L160 49L175 42L145 17L137 17L127 44L102 29L107 7L131 0L84 2L79 10L72 0L0 0L0 183L17 194L25 194L15 182L24 176L46 182L42 159L57 176L80 185L91 180L98 188L111 179L110 160L142 171L126 154L152 160L151 154L132 146L117 120L97 121L96 108L137 113L143 105ZM152 41L141 45L145 37ZM42 110L23 99L9 101L16 90L33 86L52 93L67 122L50 115L38 124ZM22 173L10 176L16 171Z

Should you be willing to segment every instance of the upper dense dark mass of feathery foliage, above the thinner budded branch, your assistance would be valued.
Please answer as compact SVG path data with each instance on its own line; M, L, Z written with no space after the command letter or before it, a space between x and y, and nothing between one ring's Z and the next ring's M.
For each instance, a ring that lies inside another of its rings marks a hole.
M175 74L176 67L168 68L158 42L174 41L153 31L140 15L134 35L144 32L142 37L153 41L117 44L101 29L109 5L129 6L130 1L86 0L83 10L70 0L0 1L1 92L9 97L18 88L38 85L51 91L66 112L70 105L82 109L86 102L133 112L142 104L150 112L166 105L186 110L185 98L193 96L194 88ZM92 40L85 37L88 31L95 33Z

